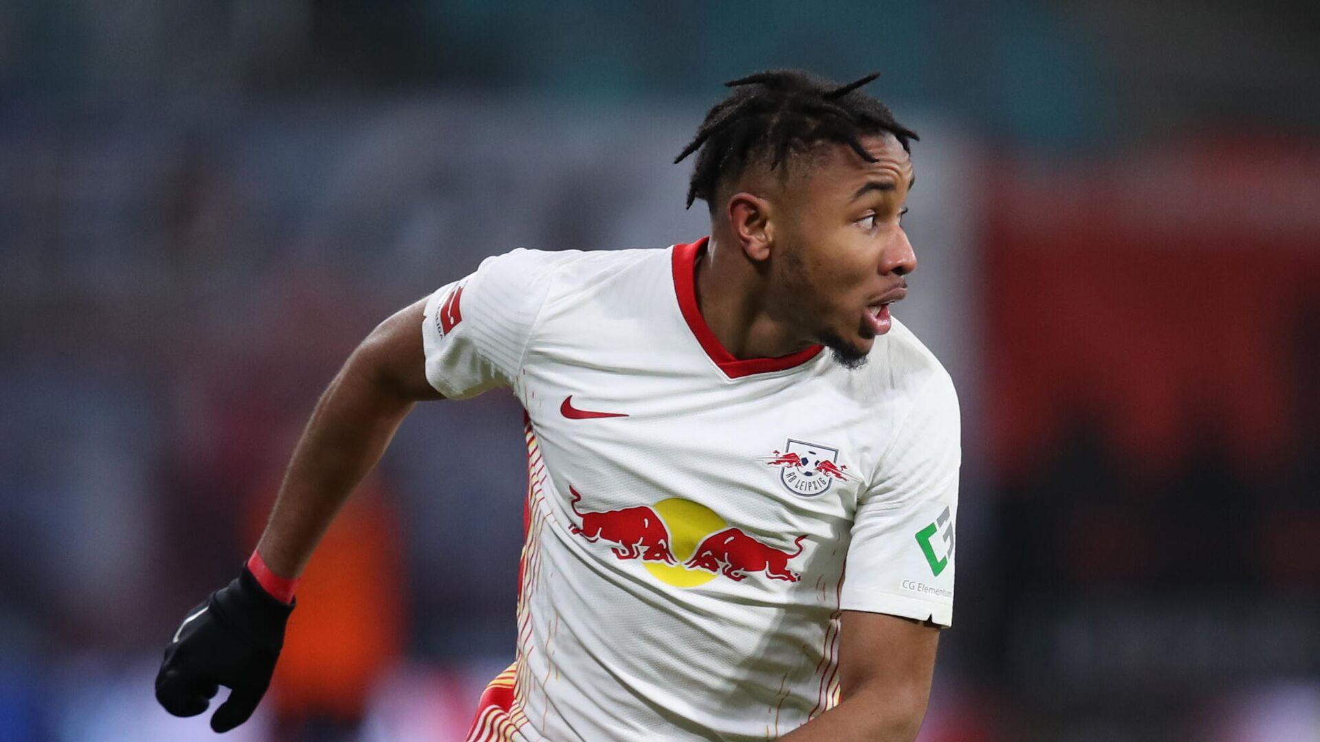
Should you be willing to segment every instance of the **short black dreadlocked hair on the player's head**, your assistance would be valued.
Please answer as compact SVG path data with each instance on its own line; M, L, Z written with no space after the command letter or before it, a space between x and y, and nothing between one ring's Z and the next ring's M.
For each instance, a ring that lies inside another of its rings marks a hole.
M916 132L859 90L878 77L873 73L838 84L801 70L770 70L726 82L733 92L706 112L696 136L673 158L677 164L701 151L688 184L688 207L700 198L714 209L719 184L735 180L748 162L768 158L771 170L781 162L787 168L791 153L818 141L846 144L862 160L875 162L861 137L891 133L911 152L909 143L920 139Z

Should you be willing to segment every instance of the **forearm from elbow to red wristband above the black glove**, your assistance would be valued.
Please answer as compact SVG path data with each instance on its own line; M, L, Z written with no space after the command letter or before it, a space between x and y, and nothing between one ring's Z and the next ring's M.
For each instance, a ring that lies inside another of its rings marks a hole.
M257 552L298 577L354 487L371 471L414 400L385 383L359 347L321 395L293 452Z

